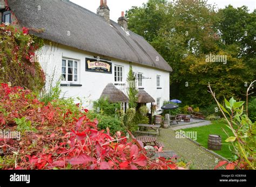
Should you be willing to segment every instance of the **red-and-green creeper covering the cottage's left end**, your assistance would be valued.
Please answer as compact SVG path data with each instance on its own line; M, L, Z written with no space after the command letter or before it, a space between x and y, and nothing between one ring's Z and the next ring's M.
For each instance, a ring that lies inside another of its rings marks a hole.
M16 26L0 25L0 82L39 92L45 82L44 72L35 62L35 52L44 40Z

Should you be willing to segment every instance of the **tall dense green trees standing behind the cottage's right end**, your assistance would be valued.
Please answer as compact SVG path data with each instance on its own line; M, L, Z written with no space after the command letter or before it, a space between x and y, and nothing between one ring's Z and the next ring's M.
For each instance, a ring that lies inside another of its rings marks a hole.
M126 16L130 30L149 41L173 68L171 97L207 107L214 104L208 82L220 102L224 96L245 98L244 84L256 75L251 68L256 63L255 13L232 6L216 12L207 1L180 0L148 1ZM210 53L226 55L227 63L206 62Z

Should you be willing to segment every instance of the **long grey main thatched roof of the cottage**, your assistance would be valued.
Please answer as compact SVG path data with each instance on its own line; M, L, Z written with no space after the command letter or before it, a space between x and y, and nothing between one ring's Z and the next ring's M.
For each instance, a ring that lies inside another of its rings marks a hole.
M143 37L132 31L127 35L116 22L111 20L109 24L103 17L75 3L67 0L8 0L8 4L21 26L45 29L43 33L33 33L38 37L103 57L172 71Z

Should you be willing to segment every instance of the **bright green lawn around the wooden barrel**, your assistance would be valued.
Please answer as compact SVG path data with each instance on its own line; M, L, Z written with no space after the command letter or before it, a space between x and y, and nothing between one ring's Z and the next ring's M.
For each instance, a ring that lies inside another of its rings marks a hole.
M225 142L228 138L227 134L232 135L230 128L226 126L226 122L224 120L212 121L212 125L206 125L201 127L194 128L186 128L183 131L196 131L197 132L197 142L200 143L201 146L207 148L207 141L209 134L218 134L221 135L222 143L221 150L213 150L215 153L225 157L226 159L231 159L233 157L233 153L230 150L231 143ZM226 133L223 131L226 131ZM231 145L231 148L232 145Z

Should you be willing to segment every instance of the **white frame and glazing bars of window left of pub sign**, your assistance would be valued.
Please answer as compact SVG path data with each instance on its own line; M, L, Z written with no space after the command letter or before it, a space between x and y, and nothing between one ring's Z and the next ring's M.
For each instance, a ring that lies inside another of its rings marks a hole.
M65 60L65 67L63 66L63 61ZM69 74L69 61L72 61L72 74ZM75 67L75 62L77 62L77 67ZM79 60L76 60L76 59L69 59L69 58L65 58L63 57L62 58L62 68L65 68L65 80L61 80L62 83L79 83ZM62 68L61 68L61 71L62 71ZM75 69L77 69L77 74L75 74ZM62 71L62 74L61 75L64 75L63 74L63 71ZM69 75L72 75L72 81L69 81ZM75 81L75 76L77 76L77 81Z

